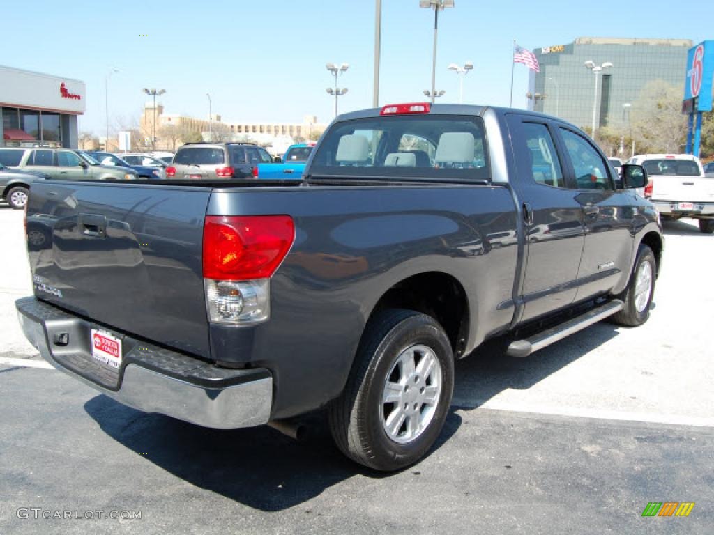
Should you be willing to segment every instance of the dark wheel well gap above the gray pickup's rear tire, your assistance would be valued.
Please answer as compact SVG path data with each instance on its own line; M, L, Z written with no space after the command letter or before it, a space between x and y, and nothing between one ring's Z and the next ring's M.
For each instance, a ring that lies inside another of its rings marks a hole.
M456 278L441 272L408 277L387 290L371 316L387 308L406 308L430 315L446 331L454 356L463 357L468 338L468 301Z

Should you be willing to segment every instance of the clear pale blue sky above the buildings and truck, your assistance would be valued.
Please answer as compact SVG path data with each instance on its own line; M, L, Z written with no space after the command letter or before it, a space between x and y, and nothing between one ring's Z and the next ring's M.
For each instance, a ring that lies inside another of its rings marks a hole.
M333 118L325 64L348 63L339 110L372 106L373 0L2 0L0 64L86 83L80 131L138 122L143 88L164 89L164 113L227 122ZM456 0L439 14L436 89L458 102L450 63L472 61L465 103L508 106L513 41L533 50L581 36L714 39L714 1L523 2ZM433 10L418 0L382 1L380 105L425 101L431 86ZM11 46L9 44L12 44ZM583 69L583 76L587 73ZM683 73L684 76L684 73ZM513 106L526 107L528 68L517 64ZM0 81L1 83L1 81Z

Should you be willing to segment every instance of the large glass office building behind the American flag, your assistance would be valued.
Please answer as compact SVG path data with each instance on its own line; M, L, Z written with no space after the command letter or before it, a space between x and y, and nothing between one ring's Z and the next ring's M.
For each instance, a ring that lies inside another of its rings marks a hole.
M573 43L535 49L540 73L531 71L528 109L563 118L589 131L595 108L595 128L623 127L630 109L623 105L633 105L649 81L664 80L684 88L691 46L688 39L579 37ZM595 74L585 67L586 61L613 66Z

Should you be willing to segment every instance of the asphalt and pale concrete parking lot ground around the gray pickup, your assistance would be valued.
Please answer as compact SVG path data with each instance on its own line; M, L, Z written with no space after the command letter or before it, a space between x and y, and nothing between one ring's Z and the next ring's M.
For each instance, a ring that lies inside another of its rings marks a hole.
M526 360L457 365L433 452L384 476L306 442L215 431L117 404L42 367L13 302L31 291L22 213L0 206L0 533L711 533L714 236L666 223L650 321L601 323ZM693 501L686 518L643 518ZM20 518L20 508L71 519ZM76 519L87 511L141 519Z

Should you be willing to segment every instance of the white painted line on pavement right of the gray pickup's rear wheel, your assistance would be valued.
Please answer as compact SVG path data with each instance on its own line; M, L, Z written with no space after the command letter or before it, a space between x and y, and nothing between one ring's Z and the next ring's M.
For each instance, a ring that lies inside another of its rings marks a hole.
M572 416L578 418L595 418L605 420L618 420L623 422L645 422L650 424L690 425L695 427L714 427L714 418L683 416L681 414L657 414L653 412L627 412L608 409L581 408L581 407L550 407L532 403L499 401L496 399L473 400L454 398L456 407L478 407L495 411L528 412L532 414L548 414L551 416Z

